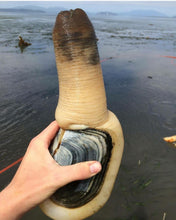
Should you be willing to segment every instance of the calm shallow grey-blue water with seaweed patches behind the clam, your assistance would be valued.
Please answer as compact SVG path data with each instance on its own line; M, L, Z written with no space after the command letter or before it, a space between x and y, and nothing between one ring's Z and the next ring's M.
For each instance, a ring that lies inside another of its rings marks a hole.
M122 164L106 205L88 220L175 218L176 22L173 18L91 17L108 108L125 137ZM0 170L22 157L50 121L58 99L52 44L55 16L0 14ZM18 35L32 45L23 53ZM0 189L17 165L0 174ZM49 219L39 208L22 219Z

